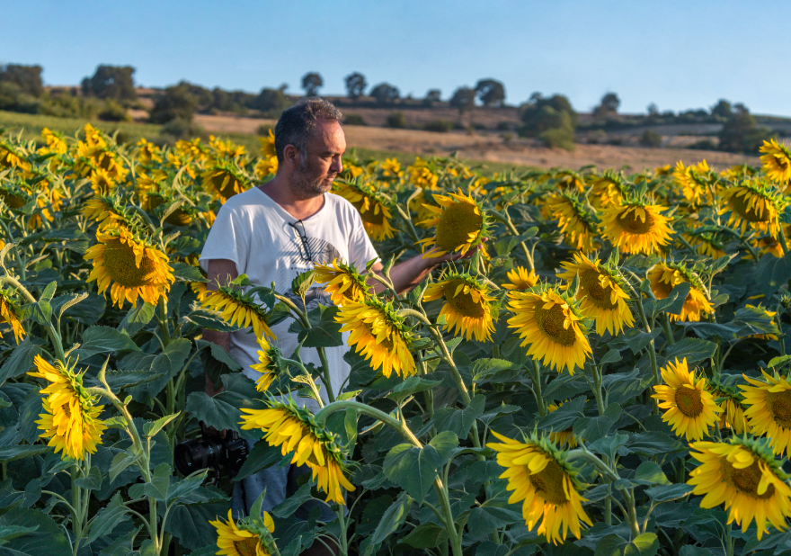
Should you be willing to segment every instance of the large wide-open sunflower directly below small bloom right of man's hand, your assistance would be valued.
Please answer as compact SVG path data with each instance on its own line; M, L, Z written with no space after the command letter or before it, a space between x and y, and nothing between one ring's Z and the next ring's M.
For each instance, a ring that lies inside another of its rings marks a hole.
M522 346L530 345L530 357L543 358L557 372L564 367L571 374L576 367L582 369L591 345L580 323L582 313L571 298L548 286L538 293L510 291L508 297L514 313L508 326L517 329Z

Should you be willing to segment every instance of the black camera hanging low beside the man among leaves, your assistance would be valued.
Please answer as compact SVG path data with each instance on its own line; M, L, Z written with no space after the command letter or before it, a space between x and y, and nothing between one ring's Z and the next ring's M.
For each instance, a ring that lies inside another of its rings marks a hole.
M183 475L189 475L201 469L214 469L219 475L222 467L229 477L235 477L242 469L250 447L244 438L228 431L225 438L214 438L203 435L182 444L177 444L173 453L176 468Z

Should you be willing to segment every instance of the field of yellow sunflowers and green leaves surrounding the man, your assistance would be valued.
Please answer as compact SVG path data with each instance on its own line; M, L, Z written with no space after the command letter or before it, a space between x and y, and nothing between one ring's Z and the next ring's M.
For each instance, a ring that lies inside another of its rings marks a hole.
M5 134L0 553L791 553L791 151L762 152L631 175L346 157L333 192L384 272L316 265L279 284L300 307L198 266L222 204L276 171L273 137ZM394 264L446 253L396 293ZM311 287L333 306L307 310ZM203 338L243 328L255 382ZM326 402L300 350L340 345ZM259 440L235 477L177 470L201 422ZM229 512L234 480L292 462L294 496ZM311 499L333 521L298 520Z

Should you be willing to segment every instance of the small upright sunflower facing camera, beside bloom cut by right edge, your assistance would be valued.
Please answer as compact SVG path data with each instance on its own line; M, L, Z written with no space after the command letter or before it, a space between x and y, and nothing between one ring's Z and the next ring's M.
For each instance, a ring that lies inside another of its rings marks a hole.
M722 409L706 390L706 378L695 381L695 371L689 371L685 357L682 361L677 358L676 363L668 361L667 366L662 367L662 381L664 384L653 387L656 393L651 396L659 400L660 408L667 409L662 421L688 442L708 435L708 427L719 420L717 413Z

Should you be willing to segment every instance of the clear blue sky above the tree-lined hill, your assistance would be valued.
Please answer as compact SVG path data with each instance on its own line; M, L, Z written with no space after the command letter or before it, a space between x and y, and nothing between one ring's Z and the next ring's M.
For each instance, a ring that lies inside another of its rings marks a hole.
M791 116L791 2L733 0L0 0L0 64L76 85L99 64L138 85L185 79L258 92L316 71L343 94L353 71L402 95L502 81L506 102L561 93L587 112L708 108L720 98Z

